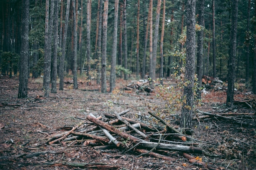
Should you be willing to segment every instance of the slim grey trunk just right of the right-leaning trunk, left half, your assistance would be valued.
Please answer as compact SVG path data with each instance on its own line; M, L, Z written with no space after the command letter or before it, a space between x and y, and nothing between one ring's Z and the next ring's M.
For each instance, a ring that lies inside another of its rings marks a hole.
M78 89L77 84L77 22L76 22L76 7L75 7L75 0L72 0L72 7L73 7L73 30L74 30L74 48L73 48L73 83L74 89Z

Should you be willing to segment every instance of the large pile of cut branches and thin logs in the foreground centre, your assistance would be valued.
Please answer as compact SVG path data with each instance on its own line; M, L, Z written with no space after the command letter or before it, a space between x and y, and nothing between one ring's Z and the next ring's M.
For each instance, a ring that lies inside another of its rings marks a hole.
M123 117L129 110L124 110L115 115L106 113L105 117L95 117L89 114L82 123L72 129L48 136L46 144L64 146L91 146L95 149L118 148L122 153L129 151L138 153L137 157L150 155L168 161L174 161L168 157L168 151L180 151L193 154L205 154L195 141L183 135L176 128L166 121L149 112L150 115L158 119L165 127L155 127L142 123L135 119ZM102 121L101 119L104 119ZM189 161L195 161L193 156L184 154ZM215 155L216 156L216 155ZM197 161L195 161L197 162ZM197 165L209 169L218 170L219 167L210 166L207 163L198 161Z

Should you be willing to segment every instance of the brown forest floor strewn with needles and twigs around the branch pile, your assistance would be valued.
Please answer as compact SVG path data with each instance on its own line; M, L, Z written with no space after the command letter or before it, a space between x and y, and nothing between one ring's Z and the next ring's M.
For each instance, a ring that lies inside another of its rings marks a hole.
M71 82L72 77L65 81ZM73 84L65 84L63 91L50 93L50 97L45 98L40 97L44 95L43 79L29 79L28 98L18 99L18 77L0 77L0 169L104 170L99 165L108 165L113 170L208 170L189 163L178 151L164 152L173 160L165 161L148 155L136 157L139 154L132 150L122 154L122 148L96 150L93 146L81 144L70 147L61 142L53 145L45 143L47 136L87 121L81 118L85 119L89 113L96 117L102 115L106 119L104 113L120 113L129 109L124 116L139 119L138 113L148 115L148 111L152 111L166 114L164 119L171 119L173 126L177 126L176 123L179 122L179 111L173 115L166 111L168 101L157 95L157 87L153 93L125 91L122 88L130 84L131 80L117 79L114 93L101 94L100 86L94 81L92 86L86 86L84 82L84 79L79 78L79 90L73 90ZM235 100L255 97L246 92L248 91L236 91ZM224 110L225 100L225 91L207 91L206 94L202 93L202 105L197 106L197 109L204 112ZM256 108L235 105L229 110L231 111L256 113ZM207 165L222 167L218 169L256 170L255 126L242 126L235 121L218 118L209 121L193 120L193 124L194 133L191 137L204 141L197 141L197 147L222 157L190 155L199 157ZM91 168L81 166L87 165L86 163L91 163Z

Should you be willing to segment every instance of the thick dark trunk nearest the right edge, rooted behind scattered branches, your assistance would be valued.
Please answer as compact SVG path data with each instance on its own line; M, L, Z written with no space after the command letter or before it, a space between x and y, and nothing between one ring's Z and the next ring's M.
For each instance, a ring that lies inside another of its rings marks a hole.
M234 81L236 72L236 32L237 32L237 15L238 15L238 0L233 0L232 17L230 30L230 49L228 61L228 85L227 85L227 101L226 107L232 108L234 104Z

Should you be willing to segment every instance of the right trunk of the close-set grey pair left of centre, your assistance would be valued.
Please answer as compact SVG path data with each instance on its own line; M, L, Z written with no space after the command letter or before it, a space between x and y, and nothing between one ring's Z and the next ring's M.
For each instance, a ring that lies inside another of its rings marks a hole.
M54 40L54 51L53 51L53 59L52 59L52 93L57 93L57 57L58 57L58 7L59 2L58 0L54 0L54 33L53 33L53 40Z

